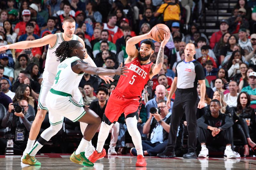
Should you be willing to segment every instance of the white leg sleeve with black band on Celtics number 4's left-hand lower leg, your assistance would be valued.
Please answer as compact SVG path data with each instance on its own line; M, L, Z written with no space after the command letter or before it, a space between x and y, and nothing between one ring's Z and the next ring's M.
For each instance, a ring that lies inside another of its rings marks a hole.
M35 156L36 153L43 147L43 145L51 139L62 128L62 123L51 125L45 129L40 135L39 139L34 144L32 150L28 153L30 156Z

